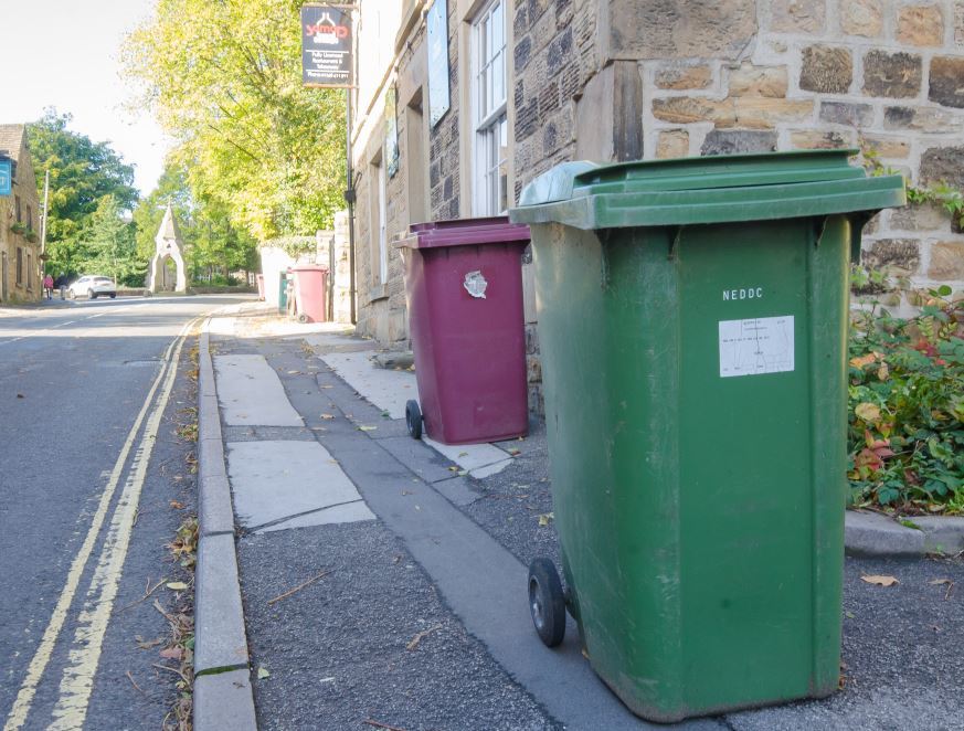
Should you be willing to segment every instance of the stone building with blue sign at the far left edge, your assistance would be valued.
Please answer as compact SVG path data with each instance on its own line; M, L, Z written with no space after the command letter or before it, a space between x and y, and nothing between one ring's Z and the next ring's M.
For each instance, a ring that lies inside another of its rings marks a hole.
M13 190L0 195L0 303L36 301L43 295L41 208L27 130L0 125L0 159L13 161Z

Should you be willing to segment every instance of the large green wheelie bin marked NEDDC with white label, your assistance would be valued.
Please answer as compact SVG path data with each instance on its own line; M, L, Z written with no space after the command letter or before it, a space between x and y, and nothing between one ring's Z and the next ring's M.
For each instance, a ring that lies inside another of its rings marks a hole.
M510 211L568 586L533 561L532 617L646 719L837 688L849 263L905 202L855 153L563 163Z

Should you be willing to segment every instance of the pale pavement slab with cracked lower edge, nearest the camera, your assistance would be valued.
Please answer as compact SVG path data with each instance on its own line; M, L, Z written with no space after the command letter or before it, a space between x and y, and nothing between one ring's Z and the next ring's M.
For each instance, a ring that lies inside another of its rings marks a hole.
M299 525L339 522L338 505L361 499L329 452L317 442L232 442L227 475L237 521L256 529L304 516ZM310 513L310 516L308 515ZM345 513L351 519L354 513Z

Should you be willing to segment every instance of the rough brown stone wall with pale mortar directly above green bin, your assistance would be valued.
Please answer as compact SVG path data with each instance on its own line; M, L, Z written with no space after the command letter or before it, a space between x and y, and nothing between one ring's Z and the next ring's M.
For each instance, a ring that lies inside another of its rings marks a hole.
M755 21L735 54L640 61L645 157L855 147L915 186L964 187L964 2L775 0ZM886 211L864 263L960 288L953 229L932 205Z

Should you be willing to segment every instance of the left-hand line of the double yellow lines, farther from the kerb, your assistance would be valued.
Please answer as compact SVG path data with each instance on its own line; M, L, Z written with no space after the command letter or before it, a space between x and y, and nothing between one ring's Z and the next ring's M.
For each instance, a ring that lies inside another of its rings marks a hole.
M74 557L74 560L71 563L71 570L67 573L64 589L61 592L60 597L57 598L56 606L54 607L46 629L44 629L43 637L40 640L40 645L38 646L36 651L33 655L33 659L31 659L30 666L27 669L27 677L24 678L23 684L20 687L20 691L17 693L17 700L13 703L13 708L10 709L10 713L7 717L7 722L3 725L3 731L14 731L15 729L21 728L27 721L27 717L30 713L31 704L33 703L33 697L36 693L36 687L40 684L41 677L43 676L47 664L50 663L54 645L56 644L61 629L64 626L64 622L67 618L67 612L74 601L74 595L77 592L77 585L81 582L81 576L84 573L84 568L87 565L87 561L94 550L94 543L97 540L97 536L100 533L100 528L104 526L104 519L107 516L107 509L110 507L110 500L114 498L114 492L117 489L117 484L120 481L120 475L124 472L124 465L126 464L127 457L130 454L130 448L134 446L134 441L135 438L137 438L137 433L140 431L140 425L144 422L145 415L147 414L151 402L153 401L155 393L157 392L158 386L160 385L161 381L163 381L163 378L169 370L169 357L173 351L174 345L181 339L183 333L188 331L188 327L190 327L192 322L189 322L184 326L184 328L181 330L181 335L172 340L165 351L163 364L161 367L161 370L155 379L153 383L151 384L150 391L148 391L147 394L147 399L145 399L144 406L141 406L140 413L138 413L137 419L134 422L134 426L131 426L130 432L127 435L127 439L124 442L124 446L120 449L117 462L114 464L114 469L110 472L110 479L108 480L107 486L104 488L104 492L100 496L100 501L97 505L97 510L94 513L94 519L91 523L91 528L87 530L87 536L84 539L84 543L81 545L81 550L77 551L77 554Z

